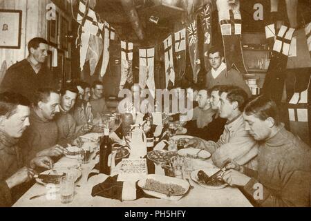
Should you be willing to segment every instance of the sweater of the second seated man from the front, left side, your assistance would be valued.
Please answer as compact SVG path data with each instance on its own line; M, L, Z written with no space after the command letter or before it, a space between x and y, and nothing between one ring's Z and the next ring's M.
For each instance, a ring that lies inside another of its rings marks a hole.
M30 126L19 140L19 146L26 159L30 160L39 151L55 146L58 137L55 120L44 121L32 110L30 112Z

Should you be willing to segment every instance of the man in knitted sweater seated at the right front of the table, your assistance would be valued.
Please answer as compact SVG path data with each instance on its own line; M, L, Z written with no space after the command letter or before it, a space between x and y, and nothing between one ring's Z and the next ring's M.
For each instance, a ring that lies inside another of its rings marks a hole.
M257 97L247 104L243 117L247 131L260 144L258 170L232 161L223 180L242 186L259 206L310 206L310 147L286 131L272 99Z

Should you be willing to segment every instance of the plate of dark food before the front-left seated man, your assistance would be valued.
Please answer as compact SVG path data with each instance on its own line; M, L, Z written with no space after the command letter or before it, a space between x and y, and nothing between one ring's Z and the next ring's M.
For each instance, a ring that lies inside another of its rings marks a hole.
M39 175L35 175L36 181L39 184L43 184L44 186L48 184L59 184L60 178L64 175L67 175L68 173L73 174L73 177L75 178L75 182L81 177L82 173L81 171L77 169L61 169L61 168L55 168L48 171L44 171L40 173Z

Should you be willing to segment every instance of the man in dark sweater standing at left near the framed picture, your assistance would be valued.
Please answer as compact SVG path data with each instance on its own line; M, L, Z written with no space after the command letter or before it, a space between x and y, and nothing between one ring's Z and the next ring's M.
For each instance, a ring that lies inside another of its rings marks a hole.
M53 87L53 75L44 62L48 56L48 42L36 37L28 42L29 55L8 68L0 92L11 91L26 96L31 102L35 90Z

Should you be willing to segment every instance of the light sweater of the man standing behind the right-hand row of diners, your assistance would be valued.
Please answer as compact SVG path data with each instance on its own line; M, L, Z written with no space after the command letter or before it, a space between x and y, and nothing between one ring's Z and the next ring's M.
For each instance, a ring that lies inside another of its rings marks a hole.
M243 75L238 73L238 71L234 69L228 70L227 77L226 77L226 70L223 70L216 78L211 75L211 70L206 75L206 86L207 88L213 88L216 85L233 85L238 86L245 90L248 97L252 96L252 92L249 89L249 86L245 83L243 79Z

